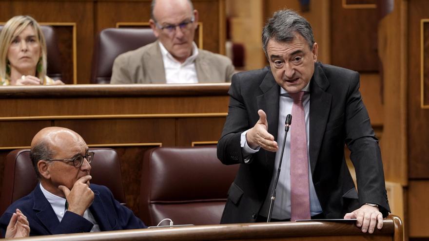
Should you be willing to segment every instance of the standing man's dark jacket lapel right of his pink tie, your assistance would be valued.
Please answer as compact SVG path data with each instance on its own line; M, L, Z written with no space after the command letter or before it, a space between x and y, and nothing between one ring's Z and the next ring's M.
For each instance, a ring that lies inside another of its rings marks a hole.
M326 92L329 87L329 81L319 63L314 64L314 74L311 81L309 153L313 173L331 110L332 94Z

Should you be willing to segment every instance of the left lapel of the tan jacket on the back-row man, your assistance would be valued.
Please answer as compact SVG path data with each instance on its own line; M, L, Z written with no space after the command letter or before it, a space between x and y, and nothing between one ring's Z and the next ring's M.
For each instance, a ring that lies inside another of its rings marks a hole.
M146 76L151 80L152 84L165 84L164 61L162 60L161 48L159 42L155 41L153 47L146 52L146 57L142 58L142 66L146 66L143 70ZM149 81L145 82L149 83Z

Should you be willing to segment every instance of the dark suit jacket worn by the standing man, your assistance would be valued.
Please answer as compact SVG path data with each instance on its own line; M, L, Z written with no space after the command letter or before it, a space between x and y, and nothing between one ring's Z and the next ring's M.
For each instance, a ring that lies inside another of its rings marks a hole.
M230 105L217 156L227 165L240 164L221 223L254 222L273 178L275 152L260 149L244 164L240 135L267 114L268 132L277 140L280 87L269 67L234 74ZM292 116L293 121L293 116ZM359 93L357 72L315 63L310 81L310 146L312 181L327 219L343 218L365 203L378 204L387 216L389 204L378 140ZM359 195L344 158L351 150Z

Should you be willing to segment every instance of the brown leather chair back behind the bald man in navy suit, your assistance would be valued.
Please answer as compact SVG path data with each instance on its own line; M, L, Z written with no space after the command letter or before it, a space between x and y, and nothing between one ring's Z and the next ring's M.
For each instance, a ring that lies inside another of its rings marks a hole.
M125 203L119 156L114 149L90 148L94 151L91 163L91 183L105 185L119 203ZM3 186L0 196L0 214L16 200L29 194L37 185L36 172L30 159L30 149L9 152L4 164Z

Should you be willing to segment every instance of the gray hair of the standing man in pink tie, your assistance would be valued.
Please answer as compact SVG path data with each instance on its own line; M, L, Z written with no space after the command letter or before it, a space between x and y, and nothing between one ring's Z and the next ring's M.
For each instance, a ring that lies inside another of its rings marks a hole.
M289 42L293 40L295 32L304 37L310 46L310 50L312 50L314 35L312 26L307 19L289 9L275 12L262 30L262 48L265 55L267 55L267 45L270 39L278 42Z

